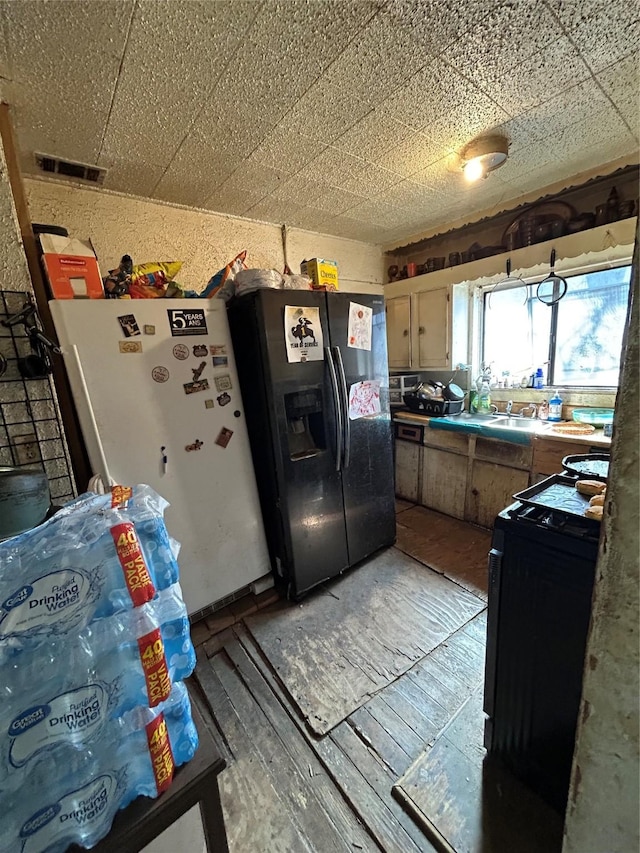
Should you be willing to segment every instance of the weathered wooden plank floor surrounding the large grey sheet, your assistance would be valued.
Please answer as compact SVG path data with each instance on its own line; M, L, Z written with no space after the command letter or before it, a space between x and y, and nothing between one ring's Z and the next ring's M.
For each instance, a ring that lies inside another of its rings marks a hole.
M406 547L416 555L433 551L438 519L425 517L421 529L420 513L411 505L399 502L397 509L399 530L403 515L413 513L407 518L410 526L404 525L412 531ZM437 814L425 814L432 807L433 790L429 780L417 781L424 779L424 768L442 752L432 752L439 744L456 743L461 753L466 748L467 764L474 767L484 753L479 730L473 742L467 738L466 746L461 746L460 738L447 737L449 731L455 732L457 721L465 719L465 709L469 716L472 703L478 703L486 632L486 576L480 577L478 566L471 565L471 555L484 547L482 539L477 544L482 531L455 523L460 526L451 548L461 555L460 590L474 588L477 607L464 624L368 701L351 712L346 708L345 718L323 736L305 721L242 618L212 639L206 639L205 631L198 632L199 705L213 716L228 762L219 782L231 853L512 853L513 848L503 851L487 845L477 827L475 835L470 831L473 819L462 819L467 813L481 813L483 782L480 776L471 783L469 778L462 784L458 780L456 801L455 774L466 766L459 756L446 792L457 808L453 830ZM407 560L401 551L396 553L400 562ZM450 559L444 568L437 567L441 581L443 574L450 579L456 575L455 563ZM418 568L428 586L430 573L436 572L423 564ZM322 593L317 595L321 601ZM312 606L313 598L308 601ZM278 602L271 607L274 613L282 609ZM262 611L261 620L269 610ZM474 719L477 716L474 711ZM438 768L446 776L446 767ZM540 819L539 814L535 817ZM526 832L526 823L522 829ZM536 853L556 849L540 848Z

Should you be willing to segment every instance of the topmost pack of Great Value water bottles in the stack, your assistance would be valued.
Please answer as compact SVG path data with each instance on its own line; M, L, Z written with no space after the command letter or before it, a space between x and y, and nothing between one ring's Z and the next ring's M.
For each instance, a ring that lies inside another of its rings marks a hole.
M168 506L135 486L126 507L82 495L49 521L0 543L0 644L36 648L92 620L150 601L178 580Z

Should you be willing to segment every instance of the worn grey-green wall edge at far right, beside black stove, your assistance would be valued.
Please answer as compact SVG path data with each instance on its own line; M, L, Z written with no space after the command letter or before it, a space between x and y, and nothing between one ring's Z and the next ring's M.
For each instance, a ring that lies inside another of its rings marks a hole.
M640 505L638 238L627 353L616 406L610 485L563 853L631 853L638 834Z

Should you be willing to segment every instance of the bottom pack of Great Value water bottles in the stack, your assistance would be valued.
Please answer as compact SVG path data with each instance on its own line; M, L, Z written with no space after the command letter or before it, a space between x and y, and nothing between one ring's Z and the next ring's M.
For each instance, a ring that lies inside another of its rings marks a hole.
M174 768L198 746L184 684L157 709L137 708L115 720L91 749L64 763L47 756L21 790L0 792L0 853L63 853L70 844L93 847L118 809L138 796L157 797Z

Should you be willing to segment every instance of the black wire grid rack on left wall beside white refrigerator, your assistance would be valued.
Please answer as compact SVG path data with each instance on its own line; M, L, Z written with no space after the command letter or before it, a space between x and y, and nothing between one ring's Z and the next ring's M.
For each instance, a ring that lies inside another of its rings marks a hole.
M76 488L53 379L22 375L20 359L32 354L27 329L2 324L29 300L24 291L0 290L0 465L44 470L52 502L60 504Z

